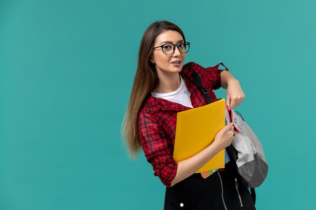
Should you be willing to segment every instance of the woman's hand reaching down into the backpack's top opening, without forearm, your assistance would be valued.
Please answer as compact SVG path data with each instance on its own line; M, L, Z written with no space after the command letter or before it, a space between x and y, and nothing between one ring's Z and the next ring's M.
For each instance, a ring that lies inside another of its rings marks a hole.
M230 110L241 104L244 100L245 94L242 91L239 81L235 78L230 79L227 82L227 95L226 95L226 106Z

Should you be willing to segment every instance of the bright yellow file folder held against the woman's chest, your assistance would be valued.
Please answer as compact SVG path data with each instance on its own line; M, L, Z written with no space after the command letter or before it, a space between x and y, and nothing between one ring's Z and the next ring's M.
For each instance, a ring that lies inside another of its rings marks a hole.
M225 127L225 99L178 112L173 158L176 163L199 153L213 143L215 135ZM222 150L195 173L225 168Z

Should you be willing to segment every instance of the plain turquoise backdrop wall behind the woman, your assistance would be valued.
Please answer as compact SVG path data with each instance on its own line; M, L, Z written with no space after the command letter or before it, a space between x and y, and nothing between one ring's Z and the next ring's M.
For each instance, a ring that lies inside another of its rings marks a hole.
M0 209L162 209L121 138L139 43L182 28L186 62L224 62L270 166L257 209L313 209L315 1L0 1ZM225 90L216 91L226 98Z

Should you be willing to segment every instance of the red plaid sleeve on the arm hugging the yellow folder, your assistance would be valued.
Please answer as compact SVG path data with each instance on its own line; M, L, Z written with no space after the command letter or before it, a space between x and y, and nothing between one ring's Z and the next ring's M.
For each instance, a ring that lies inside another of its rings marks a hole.
M170 187L177 173L178 165L173 160L172 148L167 134L161 129L150 113L140 112L138 116L138 131L147 161L152 165L154 175L158 176L164 185Z

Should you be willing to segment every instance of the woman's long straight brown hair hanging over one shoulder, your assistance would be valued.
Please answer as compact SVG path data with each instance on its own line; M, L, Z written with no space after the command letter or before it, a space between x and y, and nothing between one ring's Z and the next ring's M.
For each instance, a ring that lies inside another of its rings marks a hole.
M137 123L138 113L144 100L159 81L155 65L149 61L149 58L152 55L156 37L168 30L179 32L185 41L184 34L177 25L168 21L156 21L145 30L140 42L136 75L123 120L123 135L132 158L136 158L141 149Z

